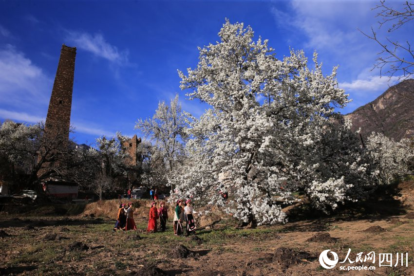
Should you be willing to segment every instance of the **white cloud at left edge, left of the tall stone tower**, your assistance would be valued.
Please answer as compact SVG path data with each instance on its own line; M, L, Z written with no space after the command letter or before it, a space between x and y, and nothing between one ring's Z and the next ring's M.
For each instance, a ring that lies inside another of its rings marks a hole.
M51 91L52 79L41 68L11 45L0 49L1 103L14 106L47 104Z

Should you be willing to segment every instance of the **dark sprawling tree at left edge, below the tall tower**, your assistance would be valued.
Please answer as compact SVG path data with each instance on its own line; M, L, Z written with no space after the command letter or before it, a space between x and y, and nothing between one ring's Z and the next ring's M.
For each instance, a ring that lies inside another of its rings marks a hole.
M72 129L71 129L72 131ZM75 143L68 141L64 129L46 129L43 122L27 126L15 122L0 125L0 174L19 168L26 177L26 186L42 191L41 182L68 179L68 172L83 164ZM10 173L8 173L10 175Z

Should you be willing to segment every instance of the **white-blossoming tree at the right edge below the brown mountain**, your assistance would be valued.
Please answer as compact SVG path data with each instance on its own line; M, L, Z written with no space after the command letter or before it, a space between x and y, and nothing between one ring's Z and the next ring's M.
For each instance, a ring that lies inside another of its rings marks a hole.
M368 137L367 149L376 165L374 175L378 184L391 184L412 173L414 150L409 139L396 142L382 133L373 132Z

